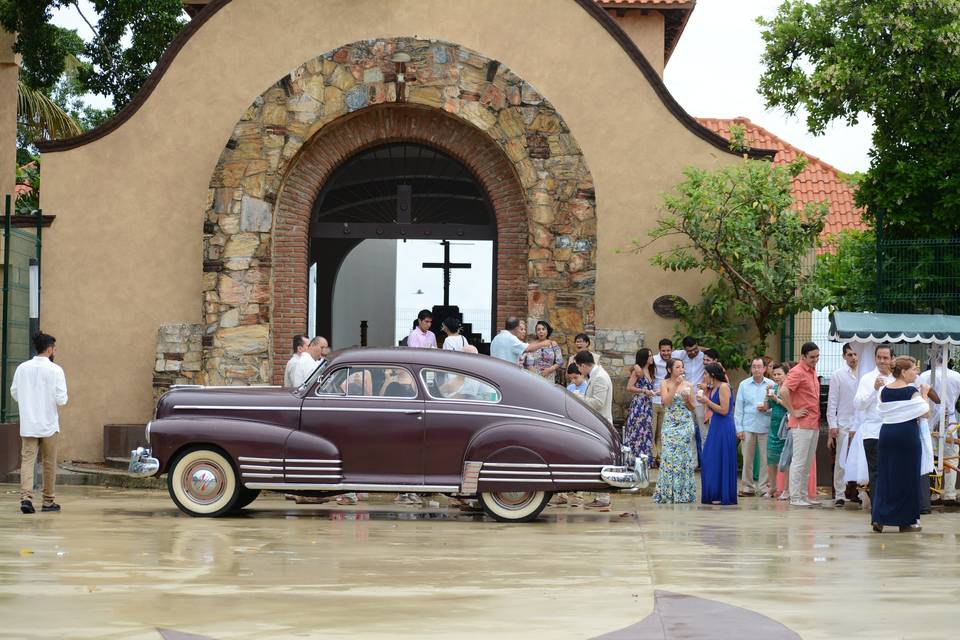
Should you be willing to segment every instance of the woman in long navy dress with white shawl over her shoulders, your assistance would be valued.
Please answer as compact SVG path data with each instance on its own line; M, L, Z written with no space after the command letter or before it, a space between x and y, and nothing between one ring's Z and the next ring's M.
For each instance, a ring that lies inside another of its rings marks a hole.
M926 462L920 418L929 414L928 385L913 386L920 375L917 361L898 356L894 381L880 390L880 429L877 487L872 505L873 530L896 526L901 532L920 531L920 474ZM932 462L932 460L931 460ZM928 472L929 473L929 472Z

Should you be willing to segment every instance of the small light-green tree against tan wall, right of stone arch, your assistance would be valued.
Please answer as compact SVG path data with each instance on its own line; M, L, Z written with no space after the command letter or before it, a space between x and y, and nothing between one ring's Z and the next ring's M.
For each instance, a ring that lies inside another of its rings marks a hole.
M676 193L664 196L651 240L635 243L639 251L676 238L679 243L652 256L651 264L719 276L723 284L705 293L718 307L718 321L723 313L750 320L757 338L753 354L765 351L784 318L822 306L823 291L804 262L817 246L827 207L796 210L791 195L805 165L803 158L788 166L744 158L710 171L688 168Z

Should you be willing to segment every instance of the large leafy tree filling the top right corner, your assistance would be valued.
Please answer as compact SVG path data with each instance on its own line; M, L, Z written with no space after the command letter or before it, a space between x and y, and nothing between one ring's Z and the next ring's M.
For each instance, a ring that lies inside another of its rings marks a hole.
M760 19L768 107L875 125L857 191L903 236L960 232L960 0L785 0Z

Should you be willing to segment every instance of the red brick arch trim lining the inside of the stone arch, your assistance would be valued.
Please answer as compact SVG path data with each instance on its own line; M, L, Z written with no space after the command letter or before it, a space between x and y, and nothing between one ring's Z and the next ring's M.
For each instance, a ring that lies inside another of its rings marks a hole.
M307 324L306 287L310 218L331 173L357 153L388 142L419 142L460 162L486 191L497 224L497 323L527 311L527 214L512 162L479 129L442 111L416 105L379 105L323 127L292 161L274 219L273 380L282 379L284 354Z

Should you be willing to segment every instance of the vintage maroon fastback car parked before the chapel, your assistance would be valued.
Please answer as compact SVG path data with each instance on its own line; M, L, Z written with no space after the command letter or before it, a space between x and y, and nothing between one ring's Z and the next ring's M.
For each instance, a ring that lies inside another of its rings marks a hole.
M175 387L130 472L167 473L194 516L261 491L477 497L500 521L537 517L555 491L631 490L645 461L560 386L494 358L433 349L349 349L299 388Z

